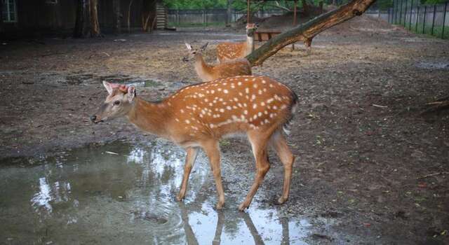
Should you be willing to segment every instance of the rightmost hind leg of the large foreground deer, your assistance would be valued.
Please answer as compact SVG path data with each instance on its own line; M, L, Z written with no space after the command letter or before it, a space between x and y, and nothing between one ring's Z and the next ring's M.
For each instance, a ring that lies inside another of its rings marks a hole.
M281 131L276 131L270 144L273 146L277 155L281 159L283 164L283 191L281 197L279 197L278 203L283 204L288 200L288 193L290 192L290 180L292 178L293 162L295 162L295 156L288 148L286 138L283 137Z

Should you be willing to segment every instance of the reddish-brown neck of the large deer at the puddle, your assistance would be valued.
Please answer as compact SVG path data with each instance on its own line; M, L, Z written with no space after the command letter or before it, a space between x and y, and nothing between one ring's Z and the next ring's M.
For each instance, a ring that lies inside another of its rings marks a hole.
M168 105L163 102L147 102L139 97L135 98L133 108L127 115L133 125L145 132L159 137L168 137L167 122L170 121Z

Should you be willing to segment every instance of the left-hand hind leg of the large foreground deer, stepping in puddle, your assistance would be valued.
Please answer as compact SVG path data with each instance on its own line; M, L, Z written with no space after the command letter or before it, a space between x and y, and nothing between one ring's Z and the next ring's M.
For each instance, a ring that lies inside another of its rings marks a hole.
M250 206L257 189L260 184L262 184L262 181L269 170L267 155L267 140L269 139L269 136L267 137L267 134L262 134L260 132L250 132L248 133L248 139L253 148L256 172L253 186L251 186L248 195L246 195L245 200L239 206L240 211L243 211Z

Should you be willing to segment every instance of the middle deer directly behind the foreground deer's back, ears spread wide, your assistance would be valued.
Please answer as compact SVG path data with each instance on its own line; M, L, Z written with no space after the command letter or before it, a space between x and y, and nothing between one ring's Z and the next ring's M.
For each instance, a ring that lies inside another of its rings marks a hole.
M206 64L202 55L202 52L206 50L208 43L201 46L199 50L192 48L192 45L189 43L185 43L185 45L187 46L187 50L189 50L189 54L182 60L188 62L190 59L195 59L196 74L198 74L203 82L218 78L252 74L251 65L250 62L248 62L248 59L233 59L213 66Z

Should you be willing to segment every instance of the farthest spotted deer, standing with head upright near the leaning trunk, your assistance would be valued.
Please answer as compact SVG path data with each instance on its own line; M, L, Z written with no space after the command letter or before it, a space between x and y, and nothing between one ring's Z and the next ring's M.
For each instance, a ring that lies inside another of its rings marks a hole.
M246 25L246 42L232 43L225 42L217 45L218 62L224 62L229 59L238 59L246 57L250 52L254 51L254 34L257 29L256 24Z

